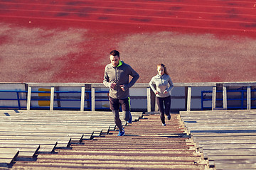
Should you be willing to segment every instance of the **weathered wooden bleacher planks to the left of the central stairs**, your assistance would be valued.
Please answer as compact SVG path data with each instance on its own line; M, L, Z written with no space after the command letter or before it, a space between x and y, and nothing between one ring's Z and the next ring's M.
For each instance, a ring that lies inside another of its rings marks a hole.
M138 120L142 113L132 115ZM115 128L111 112L90 111L1 110L0 124L0 166L16 157L32 158L71 142L91 140Z

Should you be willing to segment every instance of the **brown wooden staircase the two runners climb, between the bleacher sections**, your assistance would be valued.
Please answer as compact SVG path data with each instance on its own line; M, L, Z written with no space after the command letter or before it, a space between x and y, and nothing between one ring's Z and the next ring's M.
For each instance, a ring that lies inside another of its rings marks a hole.
M163 127L159 114L144 114L125 126L123 137L110 130L36 161L18 161L13 169L209 169L179 121L173 114Z

